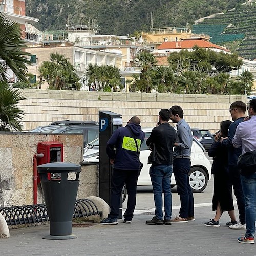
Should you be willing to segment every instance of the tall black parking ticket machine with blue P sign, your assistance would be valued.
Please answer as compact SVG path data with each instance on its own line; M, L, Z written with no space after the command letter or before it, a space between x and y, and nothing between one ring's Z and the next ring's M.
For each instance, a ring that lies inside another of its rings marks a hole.
M122 127L120 114L111 111L99 111L99 196L109 205L112 166L108 155L106 155L106 142L119 127ZM122 212L121 209L120 212Z

